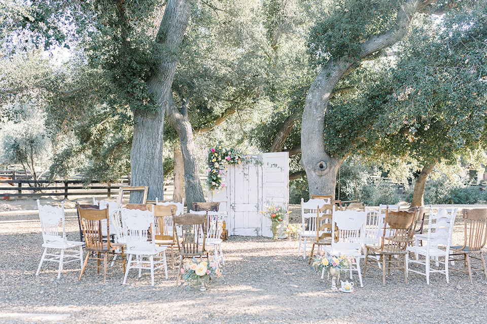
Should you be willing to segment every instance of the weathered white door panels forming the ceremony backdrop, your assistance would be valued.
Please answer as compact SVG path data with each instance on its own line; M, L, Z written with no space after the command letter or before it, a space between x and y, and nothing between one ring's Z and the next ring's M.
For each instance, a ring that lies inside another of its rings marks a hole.
M228 166L224 174L225 187L215 192L208 190L208 201L219 201L220 211L227 212L230 235L270 237L271 221L259 212L266 201L285 207L289 204L288 153L264 153L252 157L262 164Z

